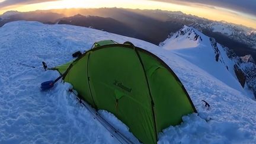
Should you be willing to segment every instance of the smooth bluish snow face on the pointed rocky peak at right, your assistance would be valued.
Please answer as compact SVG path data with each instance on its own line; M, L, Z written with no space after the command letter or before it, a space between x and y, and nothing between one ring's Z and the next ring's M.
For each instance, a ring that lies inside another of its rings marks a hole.
M235 72L232 71L233 75L231 75L226 68L225 62L229 62L227 63L229 64L229 69L233 69L233 66L231 66L233 62L229 60L220 44L217 44L220 50L220 57L223 58L220 60L222 60L225 65L220 61L216 62L215 50L211 46L209 37L190 27L184 27L182 31L185 31L184 35L180 33L174 34L170 39L164 41L165 45L162 48L171 50L171 53L183 57L190 63L193 63L212 76L215 76L219 81L229 85L229 87L244 91L241 84L237 81ZM194 40L196 35L199 35L201 40L200 38Z

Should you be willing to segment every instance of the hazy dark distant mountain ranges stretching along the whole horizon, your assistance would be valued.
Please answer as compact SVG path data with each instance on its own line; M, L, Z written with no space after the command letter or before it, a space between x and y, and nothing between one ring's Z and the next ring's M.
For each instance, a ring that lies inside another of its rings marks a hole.
M209 37L215 38L218 43L234 50L236 55L252 55L252 57L256 59L256 30L254 28L226 23L225 21L207 20L206 18L187 15L180 11L172 12L162 11L159 9L142 10L124 8L72 8L31 12L10 11L2 16L1 19L5 17L4 20L0 19L0 27L5 23L17 20L39 21L46 24L55 24L59 19L65 20L67 17L70 17L69 19L72 18L73 20L78 20L73 17L73 15L76 14L85 16L91 15L91 17L97 16L97 24L99 24L97 26L98 30L108 29L106 31L111 33L135 37L136 39L142 39L157 45L161 41L164 41L168 34L175 33L180 30L183 25L188 25L190 27L197 28L197 30ZM116 28L112 27L113 23L105 23L105 18L112 18L111 20L116 20L113 22L115 23L114 26ZM87 21L83 21L84 24L82 24L82 22L70 23L70 21L62 21L62 24L85 25L87 27ZM117 21L120 23L116 23ZM126 30L117 30L124 27Z

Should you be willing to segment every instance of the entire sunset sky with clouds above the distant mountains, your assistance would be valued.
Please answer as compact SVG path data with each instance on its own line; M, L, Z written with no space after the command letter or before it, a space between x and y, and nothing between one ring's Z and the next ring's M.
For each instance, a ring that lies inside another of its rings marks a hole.
M0 0L0 14L9 10L101 7L182 11L210 20L256 28L256 0Z

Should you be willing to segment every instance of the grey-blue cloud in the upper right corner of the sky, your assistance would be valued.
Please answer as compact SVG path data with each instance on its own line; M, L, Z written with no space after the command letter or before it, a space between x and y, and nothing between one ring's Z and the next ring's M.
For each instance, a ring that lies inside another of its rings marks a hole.
M174 4L181 5L192 5L192 4L201 4L208 5L209 7L220 7L226 9L232 9L233 11L243 12L246 14L251 14L256 16L256 1L255 0L151 0L151 1L161 1L161 2L170 2Z

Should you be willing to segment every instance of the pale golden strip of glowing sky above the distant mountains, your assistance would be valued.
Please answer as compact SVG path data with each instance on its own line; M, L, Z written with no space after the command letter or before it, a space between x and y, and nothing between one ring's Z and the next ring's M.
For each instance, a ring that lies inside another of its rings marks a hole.
M39 0L32 2L23 0L24 3L15 4L12 0L0 0L0 14L7 11L36 11L36 10L50 10L50 9L71 9L71 8L130 8L130 9L161 9L163 11L181 11L184 14L191 14L197 17L206 18L213 21L226 21L238 25L244 25L248 28L256 29L256 16L254 11L249 13L247 11L236 11L231 8L219 7L219 5L199 4L193 2L175 2L175 1L146 1L139 0L134 2L127 2L126 0L108 2L100 1L81 1L81 0ZM241 8L242 9L242 8Z

